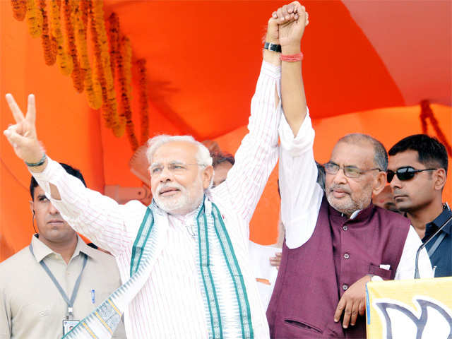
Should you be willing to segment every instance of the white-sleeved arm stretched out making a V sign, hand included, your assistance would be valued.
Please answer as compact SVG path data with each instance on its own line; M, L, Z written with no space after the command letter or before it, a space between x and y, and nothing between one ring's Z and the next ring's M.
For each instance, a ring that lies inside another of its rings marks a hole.
M4 134L61 216L74 230L112 254L121 254L129 248L137 232L133 225L140 225L145 207L139 202L121 206L107 196L86 189L59 163L46 157L37 139L35 97L28 97L25 117L12 95L6 95L6 100L16 124L9 126Z

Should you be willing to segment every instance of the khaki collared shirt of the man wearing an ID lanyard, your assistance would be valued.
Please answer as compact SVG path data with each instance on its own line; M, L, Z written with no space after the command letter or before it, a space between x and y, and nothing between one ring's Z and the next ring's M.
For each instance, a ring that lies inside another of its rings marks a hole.
M35 256L27 246L0 263L0 339L63 337L62 321L68 307L41 260L71 299L83 266L81 252L88 256L73 304L73 319L79 321L121 285L114 257L91 248L80 237L68 264L37 237L32 237L31 244ZM126 338L124 323L119 324L113 338Z

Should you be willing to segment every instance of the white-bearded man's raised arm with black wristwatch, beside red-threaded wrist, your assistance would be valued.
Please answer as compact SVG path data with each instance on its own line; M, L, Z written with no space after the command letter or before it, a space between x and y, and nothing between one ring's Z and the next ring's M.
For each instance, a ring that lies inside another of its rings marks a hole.
M268 20L266 42L279 44L278 23ZM278 161L278 125L280 121L280 53L263 51L263 63L256 92L251 100L249 133L235 154L235 164L226 181L213 194L229 196L234 209L249 222L270 173Z

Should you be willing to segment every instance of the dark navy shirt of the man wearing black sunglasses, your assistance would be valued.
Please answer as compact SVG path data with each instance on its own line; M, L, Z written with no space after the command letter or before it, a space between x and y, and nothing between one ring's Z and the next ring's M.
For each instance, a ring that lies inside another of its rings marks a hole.
M447 205L444 206L444 210L441 212L440 215L436 217L435 220L432 222L429 222L427 225L425 225L425 236L422 239L422 242L426 242L429 237L436 232L441 225L448 220L448 218L451 218L452 211L448 208ZM446 227L441 230L434 239L432 239L426 247L427 251L429 249L432 249L432 246L434 246L436 239L441 236L442 233L444 234L444 238L442 239L441 243L438 247L436 247L436 250L434 253L429 254L430 261L432 262L432 266L436 266L435 270L435 277L448 277L452 276L452 220L446 225Z

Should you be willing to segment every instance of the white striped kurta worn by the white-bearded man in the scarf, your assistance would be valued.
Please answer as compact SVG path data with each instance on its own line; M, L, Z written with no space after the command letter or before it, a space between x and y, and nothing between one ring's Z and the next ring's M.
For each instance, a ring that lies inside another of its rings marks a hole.
M280 88L280 68L263 62L251 101L249 133L237 150L235 165L224 183L206 191L222 213L242 270L254 338L268 338L269 334L265 309L249 263L249 220L278 160L281 108L275 102L277 88ZM145 215L145 206L138 201L119 205L107 196L85 189L78 179L66 174L50 159L42 173L32 174L49 198L49 183L57 186L61 200L51 198L54 206L76 231L114 254L124 283L130 276L133 241ZM147 282L124 314L129 339L208 338L202 286L196 268L196 240L192 235L192 227L196 226L194 217L194 213L172 216L157 211L155 222L167 229L165 246ZM211 260L215 256L213 253ZM235 295L227 292L219 296L219 302L232 303L232 297ZM233 321L228 314L232 311L227 310L226 307L222 316L226 322ZM225 338L237 338L237 333L225 333Z

